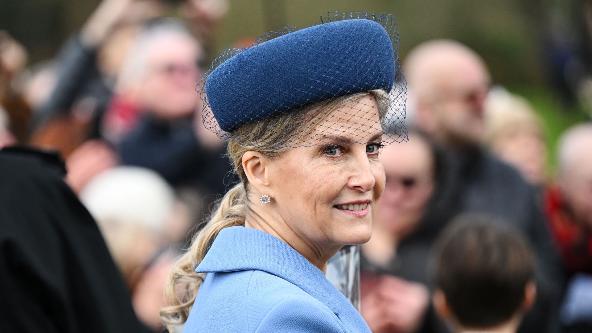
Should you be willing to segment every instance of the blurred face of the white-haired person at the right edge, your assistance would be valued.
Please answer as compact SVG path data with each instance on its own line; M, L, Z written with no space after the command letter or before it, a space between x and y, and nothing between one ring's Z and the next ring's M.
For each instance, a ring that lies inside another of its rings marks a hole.
M585 152L563 172L561 190L578 222L592 228L592 153Z

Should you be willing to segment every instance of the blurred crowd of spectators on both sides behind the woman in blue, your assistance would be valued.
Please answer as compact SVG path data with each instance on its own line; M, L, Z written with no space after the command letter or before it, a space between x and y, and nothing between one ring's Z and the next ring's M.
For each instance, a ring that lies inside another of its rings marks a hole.
M60 152L155 332L170 264L234 181L195 91L227 8L103 0L33 66L0 31L0 148ZM469 47L426 41L403 69L409 140L381 153L387 185L361 250L372 331L591 332L592 122L562 134L550 171L538 111Z

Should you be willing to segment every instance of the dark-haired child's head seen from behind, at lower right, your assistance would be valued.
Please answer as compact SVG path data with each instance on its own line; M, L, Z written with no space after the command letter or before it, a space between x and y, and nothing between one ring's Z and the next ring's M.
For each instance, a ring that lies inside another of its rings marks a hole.
M515 333L536 297L533 255L520 233L484 219L459 217L440 236L434 306L452 332Z

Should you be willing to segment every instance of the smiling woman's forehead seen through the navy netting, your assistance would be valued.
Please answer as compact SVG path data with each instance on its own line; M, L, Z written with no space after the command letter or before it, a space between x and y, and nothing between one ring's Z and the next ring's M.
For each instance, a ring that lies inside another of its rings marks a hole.
M371 95L320 112L311 123L314 126L310 137L316 144L336 139L343 143L366 143L382 134L378 103Z

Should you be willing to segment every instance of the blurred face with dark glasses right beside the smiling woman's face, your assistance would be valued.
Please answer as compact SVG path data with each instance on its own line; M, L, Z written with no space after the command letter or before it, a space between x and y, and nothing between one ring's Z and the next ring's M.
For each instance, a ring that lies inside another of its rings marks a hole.
M434 190L433 156L426 142L411 136L408 142L392 143L383 149L387 184L378 204L377 228L401 239L422 219Z

